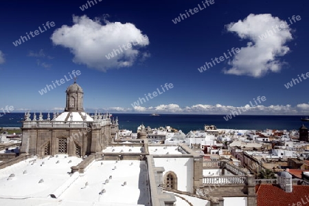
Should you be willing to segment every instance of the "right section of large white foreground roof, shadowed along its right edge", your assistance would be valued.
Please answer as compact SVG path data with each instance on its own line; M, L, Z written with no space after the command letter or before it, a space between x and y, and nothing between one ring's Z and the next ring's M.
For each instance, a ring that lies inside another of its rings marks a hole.
M149 205L147 175L145 161L95 161L59 198L102 205Z

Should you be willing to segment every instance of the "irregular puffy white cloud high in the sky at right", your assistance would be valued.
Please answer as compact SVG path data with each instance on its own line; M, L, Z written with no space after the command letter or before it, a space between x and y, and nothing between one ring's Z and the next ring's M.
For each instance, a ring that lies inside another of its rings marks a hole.
M284 29L279 31L277 27L280 25ZM269 71L279 72L286 64L279 57L290 51L285 44L293 37L285 21L271 14L250 14L243 21L225 27L229 32L236 32L241 39L249 39L247 47L242 47L229 61L231 68L224 70L225 73L259 78Z

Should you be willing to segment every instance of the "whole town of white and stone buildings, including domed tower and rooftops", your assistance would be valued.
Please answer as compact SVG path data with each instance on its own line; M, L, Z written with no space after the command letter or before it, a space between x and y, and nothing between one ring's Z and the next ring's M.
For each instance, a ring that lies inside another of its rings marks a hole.
M142 124L134 134L119 130L118 119L109 114L86 113L84 91L76 82L66 93L65 111L53 118L25 113L19 154L0 148L4 205L262 206L306 201L306 126L255 131L205 125L185 135L170 126Z

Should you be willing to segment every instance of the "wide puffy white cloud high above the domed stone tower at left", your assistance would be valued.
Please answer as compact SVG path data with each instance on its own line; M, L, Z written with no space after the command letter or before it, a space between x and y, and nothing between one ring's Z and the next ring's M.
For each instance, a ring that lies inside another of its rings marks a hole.
M146 58L149 54L141 54L141 47L149 44L148 36L141 34L132 23L111 23L100 19L89 19L87 16L73 16L74 25L62 25L52 34L55 45L70 49L74 55L73 62L87 67L106 71L107 69L130 67L139 55ZM123 45L133 47L122 47ZM122 49L119 48L122 47ZM117 56L106 58L108 54L119 50Z

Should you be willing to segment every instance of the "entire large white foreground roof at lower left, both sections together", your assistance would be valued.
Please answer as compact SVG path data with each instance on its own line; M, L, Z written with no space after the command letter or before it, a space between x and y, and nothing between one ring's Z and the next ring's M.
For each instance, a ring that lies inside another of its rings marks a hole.
M69 174L82 159L65 156L1 169L1 205L149 205L145 161L93 161L83 174Z

